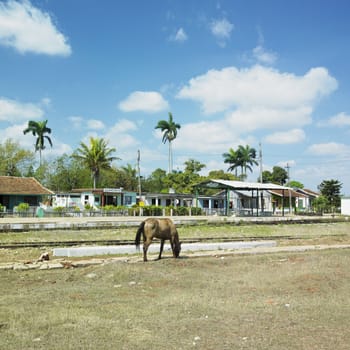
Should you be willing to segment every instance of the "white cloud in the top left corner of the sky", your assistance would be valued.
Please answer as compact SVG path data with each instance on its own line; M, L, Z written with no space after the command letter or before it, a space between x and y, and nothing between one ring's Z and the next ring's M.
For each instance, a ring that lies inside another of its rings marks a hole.
M0 3L0 44L21 53L69 56L71 47L48 13L30 1Z

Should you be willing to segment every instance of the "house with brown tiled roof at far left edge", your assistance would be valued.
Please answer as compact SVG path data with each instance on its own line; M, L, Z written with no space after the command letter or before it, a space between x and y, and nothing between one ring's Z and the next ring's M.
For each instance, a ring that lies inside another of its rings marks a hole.
M0 176L0 204L6 210L13 210L20 203L39 206L44 196L53 194L34 177Z

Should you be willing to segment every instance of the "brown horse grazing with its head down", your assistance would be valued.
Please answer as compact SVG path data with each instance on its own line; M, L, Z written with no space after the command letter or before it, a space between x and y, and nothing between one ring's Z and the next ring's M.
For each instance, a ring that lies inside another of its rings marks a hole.
M158 259L162 257L164 241L170 240L174 258L178 258L181 251L181 242L175 224L167 218L149 218L141 222L135 237L136 248L139 249L141 234L143 235L143 261L147 261L147 250L153 238L160 239L160 252Z

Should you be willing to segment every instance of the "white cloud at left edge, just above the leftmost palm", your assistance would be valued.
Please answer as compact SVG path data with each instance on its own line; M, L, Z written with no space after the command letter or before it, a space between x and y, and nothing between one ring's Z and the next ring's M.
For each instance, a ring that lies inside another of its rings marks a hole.
M0 121L16 123L27 119L39 119L44 111L33 103L22 103L0 97Z

